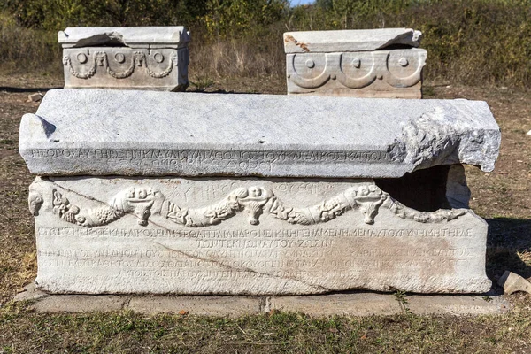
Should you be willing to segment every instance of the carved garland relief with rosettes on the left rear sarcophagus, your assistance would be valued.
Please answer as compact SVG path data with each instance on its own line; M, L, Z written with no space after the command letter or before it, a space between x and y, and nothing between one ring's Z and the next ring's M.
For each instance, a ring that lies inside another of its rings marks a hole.
M129 59L129 65L127 66L127 69L116 72L112 70L111 66L109 65L109 58L106 52L104 51L96 51L94 54L89 58L89 56L85 52L79 52L79 53L73 53L73 56L75 57L75 60L78 65L88 65L88 69L84 72L81 72L80 70L74 68L73 65L73 59L71 58L71 55L67 54L63 57L63 65L68 67L69 72L75 76L78 79L90 79L96 74L97 68L103 67L105 72L108 73L110 76L112 76L115 79L126 79L127 77L131 76L135 69L139 67L145 68L145 72L150 75L150 77L154 79L161 79L168 76L170 73L172 73L173 66L178 65L177 61L177 53L173 53L172 55L168 56L167 61L167 67L165 70L163 70L160 73L156 73L155 71L150 69L150 66L148 65L147 57L151 56L149 53L146 54L143 51L135 51L131 54L131 58ZM165 56L160 53L156 52L152 54L152 60L162 63L165 60ZM124 63L127 58L126 55L123 53L117 53L114 58L115 61L117 61L119 64Z

